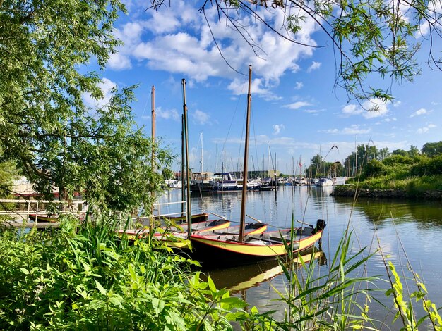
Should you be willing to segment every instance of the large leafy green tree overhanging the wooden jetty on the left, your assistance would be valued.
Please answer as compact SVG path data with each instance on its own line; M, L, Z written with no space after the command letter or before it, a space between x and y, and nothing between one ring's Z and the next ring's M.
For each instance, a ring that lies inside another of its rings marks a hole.
M0 0L0 145L48 198L124 210L150 204L160 175L150 163L153 142L136 127L132 89L113 89L103 102L100 77L119 42L113 23L119 0ZM100 101L88 106L85 94ZM167 151L156 149L160 166Z

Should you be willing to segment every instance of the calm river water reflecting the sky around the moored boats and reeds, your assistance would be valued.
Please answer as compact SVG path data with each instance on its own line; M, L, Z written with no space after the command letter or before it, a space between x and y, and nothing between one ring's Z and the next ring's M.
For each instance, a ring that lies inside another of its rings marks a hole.
M402 201L386 199L344 199L330 196L333 187L279 187L277 192L248 192L246 213L264 223L276 227L290 227L292 214L295 220L316 224L323 218L327 227L323 235L322 250L325 259L315 261L318 272L328 271L327 261L332 261L338 242L347 225L354 231L352 251L367 246L377 248L376 234L380 240L383 254L388 256L400 275L410 277L407 265L419 274L429 292L428 298L437 307L442 306L442 203L441 201ZM160 202L179 201L179 190L167 192ZM169 207L172 209L172 207ZM167 209L167 208L166 208ZM239 220L241 194L192 194L192 213L216 213L229 220ZM174 210L176 211L176 210ZM162 208L162 213L165 213ZM172 212L172 210L170 210ZM213 216L216 218L216 216ZM249 219L249 221L253 221ZM277 274L275 263L203 270L209 273L217 287L234 289L237 295L246 296L247 302L257 306L260 311L277 308L278 302L273 287L284 292L285 277ZM369 275L379 275L386 279L386 268L380 254L369 260L366 271ZM363 275L359 270L359 275ZM267 278L267 279L266 279ZM406 282L402 279L402 282ZM415 290L412 281L410 292ZM377 287L387 289L388 283L378 282ZM404 291L407 286L404 284ZM400 325L391 325L394 312L389 311L393 300L383 292L375 294L388 308L372 301L371 318L384 321L377 325L383 330L398 330ZM417 304L418 314L422 314L421 303ZM280 316L283 311L281 309Z

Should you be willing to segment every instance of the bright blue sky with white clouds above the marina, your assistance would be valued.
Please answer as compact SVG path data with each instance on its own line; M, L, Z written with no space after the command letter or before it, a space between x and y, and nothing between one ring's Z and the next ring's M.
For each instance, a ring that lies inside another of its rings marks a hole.
M168 1L166 1L168 4ZM102 75L102 88L140 84L132 105L139 125L150 135L151 96L155 86L156 132L162 146L181 152L181 79L186 80L189 110L191 168L220 171L241 167L248 67L253 68L252 121L249 169L269 168L269 149L277 168L292 173L292 159L308 164L321 152L325 161L343 161L356 144L418 149L442 140L442 74L426 65L428 44L422 47L422 75L414 82L392 85L395 101L378 104L367 112L356 101L347 102L342 89L333 89L335 58L330 41L310 20L303 23L297 40L313 48L287 42L262 25L251 37L258 56L239 33L208 12L212 32L222 48L225 63L198 8L203 1L172 1L158 13L145 11L149 1L127 1L129 15L117 22L116 35L124 42L112 54ZM274 13L274 12L273 12ZM263 15L270 15L264 13ZM273 14L274 15L274 14ZM245 18L244 18L245 19ZM249 23L246 22L245 23ZM274 27L280 28L280 15ZM279 24L279 25L278 25ZM419 38L419 36L417 36ZM94 68L93 63L90 68ZM390 82L379 82L383 85ZM104 99L105 101L105 99ZM271 168L271 166L270 166ZM179 170L175 163L174 170Z

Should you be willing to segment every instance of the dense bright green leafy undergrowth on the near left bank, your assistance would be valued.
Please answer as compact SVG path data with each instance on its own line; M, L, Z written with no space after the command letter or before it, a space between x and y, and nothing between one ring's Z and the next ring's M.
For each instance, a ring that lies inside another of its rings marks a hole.
M193 261L118 239L116 225L2 230L0 330L232 330L244 318L244 301L201 282Z

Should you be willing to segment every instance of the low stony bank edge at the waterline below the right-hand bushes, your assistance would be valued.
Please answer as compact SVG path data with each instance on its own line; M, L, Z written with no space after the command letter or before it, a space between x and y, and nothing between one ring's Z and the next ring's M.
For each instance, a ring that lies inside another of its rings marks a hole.
M359 196L369 198L413 198L413 199L434 199L442 200L442 190L425 190L419 192L417 190L408 191L405 189L367 189L358 188L356 185L336 185L331 196Z

